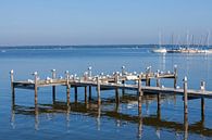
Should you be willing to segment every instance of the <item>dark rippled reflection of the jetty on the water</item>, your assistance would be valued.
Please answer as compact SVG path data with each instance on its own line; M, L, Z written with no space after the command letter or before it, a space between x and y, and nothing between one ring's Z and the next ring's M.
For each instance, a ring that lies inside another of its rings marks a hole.
M188 116L185 115L184 123L180 124L178 122L172 122L172 120L165 120L164 118L161 118L161 107L158 107L157 115L148 115L144 116L141 112L139 112L138 115L132 115L132 114L124 114L121 111L120 104L125 104L126 101L133 102L136 97L122 97L121 103L114 102L114 100L105 100L102 101L101 104L97 104L93 101L90 101L87 103L77 102L77 103L71 103L71 106L67 106L65 102L54 102L54 104L39 104L39 107L27 107L27 106L21 106L12 104L11 109L11 126L15 129L15 114L22 114L22 115L32 115L35 116L35 129L39 130L39 117L38 114L49 114L49 113L61 113L63 112L66 114L66 127L67 132L70 131L70 122L71 122L71 115L72 113L82 113L86 114L90 117L95 117L97 120L97 129L101 130L101 117L109 117L116 120L116 126L121 127L122 122L129 122L133 124L138 124L138 130L137 130L137 137L141 139L142 137L142 127L145 126L151 126L155 129L155 135L160 139L161 138L161 130L167 129L171 131L175 131L176 133L184 132L184 139L188 139L188 133L198 133L207 137L212 137L212 129L204 127L204 119L201 119L200 122L196 124L188 125ZM157 99L155 96L153 99ZM161 96L161 100L167 100L164 99L165 97ZM151 101L150 97L148 99L146 96L142 98L142 103L145 103L145 100ZM114 106L115 105L115 106ZM110 106L110 107L108 107ZM111 106L114 106L113 110ZM136 131L135 131L136 132ZM177 137L177 136L176 136Z

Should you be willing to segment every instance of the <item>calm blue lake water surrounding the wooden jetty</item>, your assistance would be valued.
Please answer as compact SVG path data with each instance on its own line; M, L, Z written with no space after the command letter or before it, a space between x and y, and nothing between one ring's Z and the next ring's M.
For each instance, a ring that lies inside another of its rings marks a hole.
M212 100L205 99L204 120L201 118L200 99L188 102L188 136L184 129L184 102L182 97L164 97L160 115L155 97L144 100L142 119L138 117L135 91L121 96L121 103L114 101L114 90L102 91L103 103L98 106L84 103L84 88L78 89L78 103L72 109L64 107L65 87L57 87L57 102L52 103L51 87L38 90L39 113L34 114L34 91L16 89L15 105L11 102L9 72L14 69L16 80L33 79L37 71L40 78L51 77L50 69L58 76L65 71L83 75L89 66L92 74L111 74L126 66L127 72L173 71L178 67L177 85L183 87L183 78L188 77L188 88L199 89L200 81L212 90L212 55L151 53L151 48L139 47L71 47L53 49L0 49L0 139L2 140L52 140L52 139L212 139ZM154 81L153 81L154 85ZM165 87L173 87L172 79L162 80ZM92 88L92 96L96 97Z

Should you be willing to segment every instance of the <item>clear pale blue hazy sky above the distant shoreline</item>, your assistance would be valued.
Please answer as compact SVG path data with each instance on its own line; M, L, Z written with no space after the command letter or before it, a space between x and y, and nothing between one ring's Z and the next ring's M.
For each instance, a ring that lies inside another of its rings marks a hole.
M169 43L211 29L212 0L0 0L0 46L157 43L159 31Z

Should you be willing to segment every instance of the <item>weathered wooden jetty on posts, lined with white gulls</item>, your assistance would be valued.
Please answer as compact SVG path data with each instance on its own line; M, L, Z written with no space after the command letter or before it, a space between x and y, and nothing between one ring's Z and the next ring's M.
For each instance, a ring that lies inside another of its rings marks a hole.
M91 100L91 87L97 89L97 102L101 104L101 90L115 90L115 100L119 102L119 89L124 90L136 90L138 92L138 114L141 115L141 105L144 94L158 94L158 107L161 104L161 93L175 93L176 96L184 97L184 116L187 119L188 114L188 98L201 98L201 114L204 115L204 98L212 98L212 91L205 90L205 82L201 82L200 90L188 89L187 77L184 78L184 88L177 87L177 66L174 66L174 72L162 73L157 71L151 72L151 67L147 67L145 73L128 73L125 71L125 66L122 67L122 72L115 72L112 75L91 75L91 67L84 73L83 76L71 75L68 71L65 72L64 78L57 78L55 69L51 71L52 77L47 77L46 79L40 79L38 73L35 72L34 80L14 80L14 72L11 71L11 88L12 88L12 101L15 102L15 88L21 89L33 89L35 90L35 109L38 104L38 88L39 87L52 87L52 100L55 101L55 87L65 86L66 87L66 104L70 106L70 96L71 88L74 88L75 101L77 101L77 88L85 88L85 101ZM161 78L172 78L174 79L173 88L166 88L161 85ZM157 81L157 86L151 86L151 80ZM130 82L128 82L130 81ZM132 82L134 81L134 82ZM145 81L145 84L142 84ZM89 97L87 97L87 87L89 88Z

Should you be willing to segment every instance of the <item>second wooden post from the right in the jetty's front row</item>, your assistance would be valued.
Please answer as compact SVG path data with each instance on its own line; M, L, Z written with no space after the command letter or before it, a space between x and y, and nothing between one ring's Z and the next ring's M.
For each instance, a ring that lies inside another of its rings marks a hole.
M138 77L138 115L141 117L142 107L142 89L141 89L141 75Z

